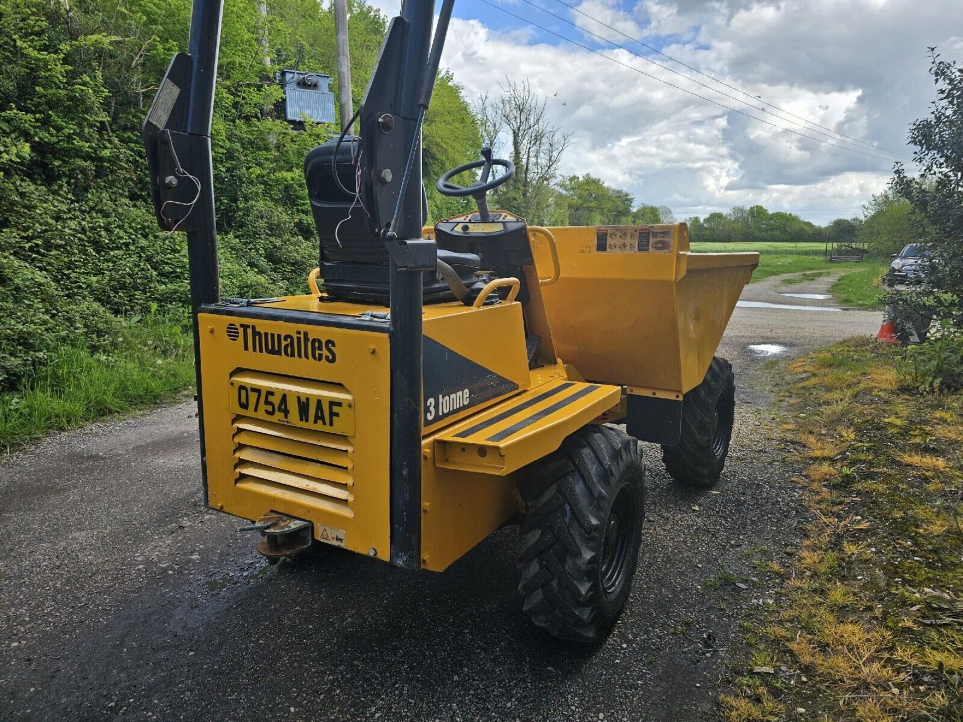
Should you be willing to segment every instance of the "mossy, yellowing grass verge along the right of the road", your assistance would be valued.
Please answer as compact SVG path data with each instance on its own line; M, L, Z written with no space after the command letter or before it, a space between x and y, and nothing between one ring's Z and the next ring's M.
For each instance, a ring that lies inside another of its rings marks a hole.
M812 521L719 697L728 722L963 720L963 395L906 391L902 353L847 342L789 367Z

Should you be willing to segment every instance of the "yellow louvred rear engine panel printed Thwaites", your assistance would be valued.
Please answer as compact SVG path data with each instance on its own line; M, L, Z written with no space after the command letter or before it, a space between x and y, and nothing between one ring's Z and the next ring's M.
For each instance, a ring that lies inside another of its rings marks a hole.
M387 559L387 333L220 314L198 327L208 503L307 519Z

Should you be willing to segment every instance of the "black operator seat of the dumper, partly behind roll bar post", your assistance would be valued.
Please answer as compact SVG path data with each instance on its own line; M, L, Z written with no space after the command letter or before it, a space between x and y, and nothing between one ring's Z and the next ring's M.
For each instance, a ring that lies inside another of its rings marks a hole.
M338 157L334 164L341 185L351 192L357 188L353 154L358 141L354 136L347 136L337 148ZM362 197L345 193L336 182L331 168L336 147L336 140L325 142L304 159L304 180L321 239L319 268L325 282L325 294L338 299L387 303L388 251L371 230ZM427 218L428 197L422 186L423 225ZM477 280L475 272L481 268L478 255L439 247L438 260L455 269L466 286ZM455 298L448 284L433 272L426 271L422 277L426 301Z

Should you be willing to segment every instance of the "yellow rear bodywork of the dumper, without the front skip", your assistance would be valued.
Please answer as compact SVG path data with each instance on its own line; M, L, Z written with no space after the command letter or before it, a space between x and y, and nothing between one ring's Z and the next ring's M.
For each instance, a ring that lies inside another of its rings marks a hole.
M310 296L283 298L271 307L351 317L383 311L356 303L322 303ZM199 317L209 504L246 519L270 511L307 519L317 538L387 559L391 433L387 334L251 320L239 314ZM306 333L311 341L332 342L335 360L257 352L249 338L253 328L265 338ZM514 384L510 391L470 408L452 409L435 423L426 414L422 566L442 571L521 510L514 472L555 451L569 433L617 405L621 391L580 383L529 403L568 381L558 362L529 370L518 302L482 308L456 302L426 306L424 334L426 348L435 341ZM488 343L491 339L499 341ZM430 373L426 366L426 389ZM591 387L590 393L578 393L584 387ZM238 400L239 389L247 390L246 407ZM286 391L290 418L278 418L276 410L267 415L263 405L255 411L253 389L262 397L272 391L275 404L276 394ZM569 398L553 412L554 404ZM311 403L306 422L297 413L299 400ZM337 418L322 416L315 424L318 404L324 414L333 402L342 404ZM434 408L440 413L437 400ZM487 435L446 446L461 429L499 415L504 419L491 425ZM501 441L485 441L522 424ZM459 458L462 446L473 455ZM479 449L490 451L488 462L496 464L485 463ZM437 450L442 450L441 456Z

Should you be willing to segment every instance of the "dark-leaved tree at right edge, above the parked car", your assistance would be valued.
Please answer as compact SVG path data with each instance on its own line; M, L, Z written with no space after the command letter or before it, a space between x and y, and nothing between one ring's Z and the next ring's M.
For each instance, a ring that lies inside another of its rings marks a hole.
M943 296L953 313L963 314L963 67L940 60L930 48L929 73L936 100L928 117L910 126L909 142L917 146L913 159L919 177L907 175L898 164L894 193L909 203L917 234L929 245L932 263L926 264L928 289Z

